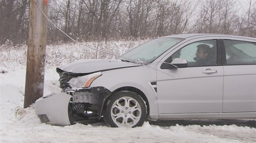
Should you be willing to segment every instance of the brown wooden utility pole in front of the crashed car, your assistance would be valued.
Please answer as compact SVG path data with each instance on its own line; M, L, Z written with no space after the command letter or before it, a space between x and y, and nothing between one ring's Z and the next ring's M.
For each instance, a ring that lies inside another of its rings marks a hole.
M47 16L47 2L30 0L24 108L43 96L47 37L47 18L44 14Z

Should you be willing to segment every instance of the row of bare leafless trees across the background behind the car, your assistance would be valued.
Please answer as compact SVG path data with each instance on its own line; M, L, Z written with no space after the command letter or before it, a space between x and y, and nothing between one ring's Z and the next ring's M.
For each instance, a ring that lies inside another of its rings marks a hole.
M26 42L28 5L29 0L0 0L0 44ZM49 44L71 41L58 28L80 41L181 33L256 35L255 0L49 0L48 5Z

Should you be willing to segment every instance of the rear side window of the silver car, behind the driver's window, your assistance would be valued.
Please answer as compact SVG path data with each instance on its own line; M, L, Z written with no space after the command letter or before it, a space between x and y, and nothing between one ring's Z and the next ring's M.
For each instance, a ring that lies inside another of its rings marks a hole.
M256 43L238 40L223 40L227 65L256 64Z

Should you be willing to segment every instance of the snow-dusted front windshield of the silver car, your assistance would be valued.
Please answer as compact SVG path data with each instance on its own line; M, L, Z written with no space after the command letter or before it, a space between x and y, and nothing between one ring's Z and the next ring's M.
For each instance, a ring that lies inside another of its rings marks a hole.
M145 44L137 46L127 53L121 55L119 60L126 62L151 63L165 51L178 44L183 39L180 38L158 38Z

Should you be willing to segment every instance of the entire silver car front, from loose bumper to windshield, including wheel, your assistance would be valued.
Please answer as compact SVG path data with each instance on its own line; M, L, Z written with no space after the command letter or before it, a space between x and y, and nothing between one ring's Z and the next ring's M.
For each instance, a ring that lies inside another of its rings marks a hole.
M90 123L103 117L110 127L137 127L146 118L157 119L155 61L182 40L154 39L118 59L78 60L58 67L62 93L38 99L37 115L52 125Z

